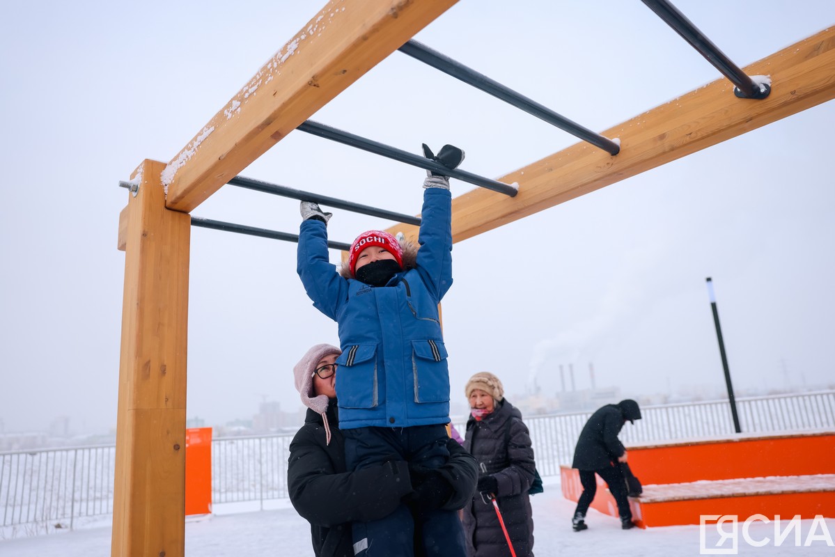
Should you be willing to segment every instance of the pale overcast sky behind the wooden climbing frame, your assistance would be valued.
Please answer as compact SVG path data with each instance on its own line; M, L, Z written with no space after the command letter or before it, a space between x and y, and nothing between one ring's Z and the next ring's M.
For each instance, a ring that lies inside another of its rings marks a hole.
M321 8L306 2L13 3L0 20L0 420L6 432L116 423L119 210ZM831 0L677 0L745 66L835 24ZM635 0L463 0L416 36L592 130L720 74ZM728 103L739 102L729 97ZM498 177L578 141L402 53L313 119ZM712 276L739 391L832 381L835 188L829 102L456 244L443 301L452 397L488 370L535 381L722 392ZM423 170L296 132L242 175L407 214ZM453 195L473 186L453 180ZM334 211L331 239L392 223ZM193 215L296 232L298 202L227 186ZM193 229L188 416L300 408L291 367L336 324L306 298L296 245ZM337 261L337 252L332 252Z

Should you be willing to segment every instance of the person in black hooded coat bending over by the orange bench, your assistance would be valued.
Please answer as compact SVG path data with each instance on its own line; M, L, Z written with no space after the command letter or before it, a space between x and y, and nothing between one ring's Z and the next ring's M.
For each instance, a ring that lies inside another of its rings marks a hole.
M618 438L618 433L624 427L626 420L630 423L640 420L638 403L631 399L599 408L591 415L579 434L577 448L574 449L574 463L571 467L579 470L579 481L583 484L583 493L579 496L574 518L571 520L574 532L588 528L585 524L585 513L589 510L591 502L595 500L597 492L595 473L604 479L618 504L621 527L630 529L635 526L632 522L625 480L616 466L616 463L625 463L627 458L626 448Z

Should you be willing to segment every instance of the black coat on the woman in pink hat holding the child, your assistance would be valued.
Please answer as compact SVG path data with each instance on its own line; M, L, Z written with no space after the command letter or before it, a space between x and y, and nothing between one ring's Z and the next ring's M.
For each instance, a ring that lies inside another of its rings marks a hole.
M287 486L296 512L311 523L316 557L353 557L351 523L382 519L412 492L407 463L392 461L356 472L345 466L345 438L338 427L337 403L327 408L331 444L321 414L307 410L305 425L290 443ZM449 463L438 472L453 486L443 509L458 510L471 498L478 470L475 459L450 440Z

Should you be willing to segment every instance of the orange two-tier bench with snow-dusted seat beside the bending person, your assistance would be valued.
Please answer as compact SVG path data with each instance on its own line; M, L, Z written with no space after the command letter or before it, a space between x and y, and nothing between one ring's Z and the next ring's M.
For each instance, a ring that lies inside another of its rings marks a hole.
M699 524L701 514L799 514L835 517L835 433L741 434L629 448L630 467L644 484L630 498L635 522ZM560 467L563 495L582 493L579 473ZM598 478L591 507L617 516L615 499Z

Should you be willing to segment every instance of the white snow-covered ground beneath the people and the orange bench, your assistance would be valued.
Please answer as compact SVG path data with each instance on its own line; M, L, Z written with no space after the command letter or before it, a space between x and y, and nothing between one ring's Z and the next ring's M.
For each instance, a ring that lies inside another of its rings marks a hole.
M620 529L620 522L590 510L589 529L575 533L570 527L574 503L563 499L559 478L545 479L545 492L534 496L534 552L537 557L610 557L629 554L631 557L679 556L700 554L698 526L671 526L653 529ZM240 512L227 506L213 516L189 519L185 525L185 554L189 557L256 557L258 555L312 555L310 530L288 502L264 511ZM235 511L235 512L231 512ZM738 554L741 555L832 555L835 519L812 529L812 520L803 520L800 546L790 534L782 545L774 544L773 524L755 522L748 529L754 541L768 539L762 547L746 544L739 525ZM785 524L784 524L785 526ZM785 529L785 528L784 528ZM809 534L810 544L804 546ZM827 539L829 541L827 543ZM707 535L707 547L716 544L718 534ZM726 546L730 546L730 539ZM3 557L107 557L110 554L110 528L88 525L62 534L23 539L0 540Z

